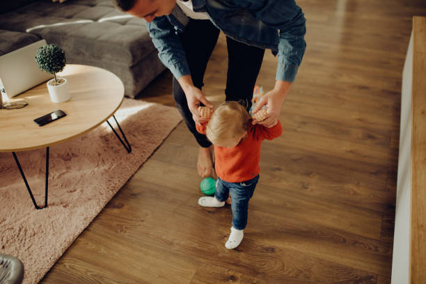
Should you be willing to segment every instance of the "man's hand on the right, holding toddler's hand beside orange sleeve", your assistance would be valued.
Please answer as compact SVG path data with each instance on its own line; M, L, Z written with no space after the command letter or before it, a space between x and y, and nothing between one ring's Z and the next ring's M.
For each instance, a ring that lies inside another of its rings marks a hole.
M290 90L290 86L290 82L276 81L274 88L261 97L253 108L253 113L256 113L266 105L266 118L262 121L258 121L256 119L253 120L253 125L260 124L265 125L265 127L273 127L276 125L281 108L283 107L284 99Z

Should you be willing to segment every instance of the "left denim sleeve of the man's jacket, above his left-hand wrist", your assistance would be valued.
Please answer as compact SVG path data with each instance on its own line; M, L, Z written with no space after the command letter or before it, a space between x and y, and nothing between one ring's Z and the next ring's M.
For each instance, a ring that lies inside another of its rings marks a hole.
M145 22L150 32L152 43L158 50L160 61L171 70L173 76L179 79L191 74L182 42L166 16L156 17L152 22Z

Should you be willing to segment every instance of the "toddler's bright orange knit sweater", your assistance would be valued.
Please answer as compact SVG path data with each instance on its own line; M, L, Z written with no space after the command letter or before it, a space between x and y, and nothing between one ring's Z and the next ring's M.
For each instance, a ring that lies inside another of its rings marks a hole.
M207 123L196 128L201 134L205 134ZM214 145L214 168L216 174L226 182L244 182L255 178L260 172L260 146L262 140L272 140L283 133L283 127L278 123L271 128L263 125L252 125L251 121L247 127L247 136L234 148L224 148Z

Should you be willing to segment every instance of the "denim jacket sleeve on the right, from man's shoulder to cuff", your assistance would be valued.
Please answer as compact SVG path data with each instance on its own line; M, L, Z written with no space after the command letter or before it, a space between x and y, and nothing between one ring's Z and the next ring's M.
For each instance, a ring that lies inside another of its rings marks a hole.
M242 0L255 17L279 30L276 79L293 82L306 49L306 19L294 0Z

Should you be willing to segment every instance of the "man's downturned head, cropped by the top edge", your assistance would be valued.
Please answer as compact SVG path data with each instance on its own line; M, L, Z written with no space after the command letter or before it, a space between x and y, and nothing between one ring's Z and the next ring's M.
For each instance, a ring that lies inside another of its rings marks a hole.
M176 0L112 0L114 6L135 17L141 17L146 22L152 22L155 17L171 14Z

